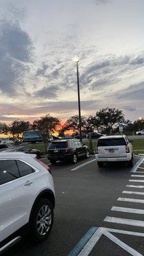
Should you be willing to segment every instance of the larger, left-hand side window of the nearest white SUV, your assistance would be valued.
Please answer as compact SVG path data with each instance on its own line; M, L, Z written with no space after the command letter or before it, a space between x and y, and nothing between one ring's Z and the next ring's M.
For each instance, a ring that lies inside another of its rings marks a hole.
M0 185L19 179L19 177L15 160L0 160Z

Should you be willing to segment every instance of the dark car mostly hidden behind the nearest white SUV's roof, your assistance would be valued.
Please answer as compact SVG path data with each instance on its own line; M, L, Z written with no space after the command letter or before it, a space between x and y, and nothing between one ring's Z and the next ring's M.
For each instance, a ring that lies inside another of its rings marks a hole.
M41 156L41 152L38 149L31 149L28 147L12 147L12 148L8 148L6 150L4 150L5 152L23 152L26 154L35 154L36 158L40 158Z

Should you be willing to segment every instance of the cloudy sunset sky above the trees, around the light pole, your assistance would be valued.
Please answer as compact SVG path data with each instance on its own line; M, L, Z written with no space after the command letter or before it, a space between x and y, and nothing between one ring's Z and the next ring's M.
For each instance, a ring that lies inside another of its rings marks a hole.
M0 0L0 122L144 117L143 0Z

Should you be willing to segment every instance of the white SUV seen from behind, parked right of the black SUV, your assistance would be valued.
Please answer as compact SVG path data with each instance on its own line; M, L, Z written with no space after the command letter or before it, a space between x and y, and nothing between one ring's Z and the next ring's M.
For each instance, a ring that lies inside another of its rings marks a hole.
M95 158L99 167L115 161L124 161L132 166L132 145L125 135L101 137L97 142Z

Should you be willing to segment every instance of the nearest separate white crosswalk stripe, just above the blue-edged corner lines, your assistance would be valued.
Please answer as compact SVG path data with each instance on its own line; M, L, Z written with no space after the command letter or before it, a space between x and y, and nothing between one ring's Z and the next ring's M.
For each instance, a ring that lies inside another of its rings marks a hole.
M144 221L141 221L141 220L130 220L130 219L123 219L123 218L107 216L104 219L104 221L111 222L111 223L117 223L117 224L130 225L130 226L144 227Z

